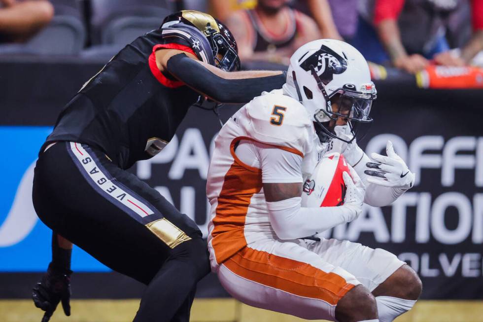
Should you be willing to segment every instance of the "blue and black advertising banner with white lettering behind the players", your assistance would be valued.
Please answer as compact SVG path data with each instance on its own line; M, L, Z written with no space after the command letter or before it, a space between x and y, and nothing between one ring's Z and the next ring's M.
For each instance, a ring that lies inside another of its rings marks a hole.
M368 154L385 154L391 140L415 173L415 186L392 206L365 206L357 220L324 234L395 253L421 277L423 298L481 299L483 112L478 102L482 95L420 91L392 95L397 92L394 88L380 90L371 112L374 124L359 142ZM221 120L237 108L223 107ZM15 118L12 115L10 119ZM205 236L206 176L220 127L213 113L192 107L172 142L130 170L193 218ZM36 217L31 193L36 154L51 129L0 126L0 275L42 272L50 261L50 230ZM72 269L109 272L80 249L73 251ZM221 286L205 283L199 289L210 287Z

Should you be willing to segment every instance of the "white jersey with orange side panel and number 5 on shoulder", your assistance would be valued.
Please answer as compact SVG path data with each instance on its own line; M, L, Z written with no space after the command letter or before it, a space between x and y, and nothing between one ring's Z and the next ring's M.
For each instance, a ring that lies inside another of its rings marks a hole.
M319 140L307 110L282 90L264 92L228 120L215 139L207 177L213 269L247 244L276 238L262 184L303 182L317 163L317 147ZM293 175L281 169L283 178L277 176L276 167L266 167L262 173L261 163L271 164L270 158L277 157L287 160L288 167L290 159L301 158L301 169Z

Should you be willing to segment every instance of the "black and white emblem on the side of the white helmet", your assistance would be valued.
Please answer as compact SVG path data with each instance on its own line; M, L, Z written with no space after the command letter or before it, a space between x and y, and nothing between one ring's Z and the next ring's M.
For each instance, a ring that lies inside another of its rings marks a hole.
M326 45L322 45L319 50L300 64L300 67L307 72L311 72L311 66L313 66L324 85L327 85L334 79L334 74L345 72L347 60Z

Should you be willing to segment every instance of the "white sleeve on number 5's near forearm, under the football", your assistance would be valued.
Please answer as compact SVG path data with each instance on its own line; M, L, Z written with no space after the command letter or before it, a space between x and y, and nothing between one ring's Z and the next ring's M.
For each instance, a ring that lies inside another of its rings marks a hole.
M280 239L309 237L354 218L355 210L345 207L304 208L302 198L267 202L270 223Z

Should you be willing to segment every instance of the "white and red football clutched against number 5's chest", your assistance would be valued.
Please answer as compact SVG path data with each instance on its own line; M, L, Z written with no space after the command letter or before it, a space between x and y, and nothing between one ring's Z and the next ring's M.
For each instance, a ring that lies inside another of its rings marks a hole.
M342 174L349 168L342 154L325 155L304 183L302 207L332 207L344 204L345 183Z

